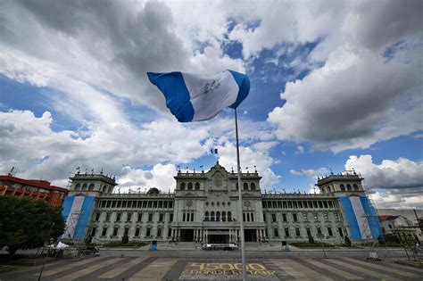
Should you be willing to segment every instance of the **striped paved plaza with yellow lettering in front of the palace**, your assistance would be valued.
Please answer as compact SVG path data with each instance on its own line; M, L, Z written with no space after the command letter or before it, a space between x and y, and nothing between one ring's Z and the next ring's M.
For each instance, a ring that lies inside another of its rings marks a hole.
M423 269L380 261L365 251L247 252L248 280L422 280ZM256 257L256 258L253 258ZM41 266L17 267L0 280L37 280ZM241 280L239 252L103 251L99 257L46 264L42 280Z

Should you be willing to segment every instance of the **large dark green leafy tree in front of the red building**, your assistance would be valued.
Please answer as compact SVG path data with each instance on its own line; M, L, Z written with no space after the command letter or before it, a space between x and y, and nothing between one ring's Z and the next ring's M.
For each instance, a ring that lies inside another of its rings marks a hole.
M43 200L0 196L0 247L18 249L43 246L62 235L62 210Z

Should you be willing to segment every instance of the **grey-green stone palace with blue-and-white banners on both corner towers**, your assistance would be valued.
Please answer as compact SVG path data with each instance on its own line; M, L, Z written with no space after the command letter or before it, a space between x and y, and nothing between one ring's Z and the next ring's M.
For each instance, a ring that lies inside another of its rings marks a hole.
M101 244L120 241L236 243L239 219L245 242L340 244L376 239L381 228L361 180L354 171L319 178L319 194L266 194L261 177L241 175L243 212L238 208L237 174L219 162L204 172L178 171L173 193L150 188L145 193L116 194L114 178L77 173L63 203L62 238Z

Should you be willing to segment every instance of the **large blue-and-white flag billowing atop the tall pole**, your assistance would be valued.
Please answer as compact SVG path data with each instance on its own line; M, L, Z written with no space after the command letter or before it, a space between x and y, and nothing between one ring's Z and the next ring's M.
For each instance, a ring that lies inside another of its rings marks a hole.
M198 75L187 72L147 72L179 122L209 120L227 107L236 109L250 92L250 79L234 70Z

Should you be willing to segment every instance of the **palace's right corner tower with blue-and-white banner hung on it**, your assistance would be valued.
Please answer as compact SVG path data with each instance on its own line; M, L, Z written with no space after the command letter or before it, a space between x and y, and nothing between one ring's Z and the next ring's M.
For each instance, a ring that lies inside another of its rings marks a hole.
M361 180L361 175L354 170L346 170L318 178L316 184L320 194L333 195L338 199L350 237L355 241L377 239L382 235L377 212L365 194Z

